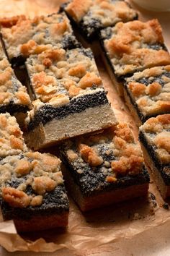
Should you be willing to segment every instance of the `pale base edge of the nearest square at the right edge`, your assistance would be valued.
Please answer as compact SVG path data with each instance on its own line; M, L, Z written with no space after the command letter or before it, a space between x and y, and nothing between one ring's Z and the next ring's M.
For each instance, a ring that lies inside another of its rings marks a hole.
M170 196L170 186L167 186L164 183L164 179L161 176L160 171L158 171L158 168L154 165L153 161L150 158L150 155L148 154L148 151L146 150L145 146L142 142L140 142L141 148L143 150L143 155L146 161L146 166L148 166L152 173L153 173L153 179L156 182L156 185L161 192L161 196L165 199L166 197ZM148 168L148 169L149 169Z

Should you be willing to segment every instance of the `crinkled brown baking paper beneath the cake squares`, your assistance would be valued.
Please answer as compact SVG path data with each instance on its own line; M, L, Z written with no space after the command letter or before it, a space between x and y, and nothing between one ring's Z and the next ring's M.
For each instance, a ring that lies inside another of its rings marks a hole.
M35 14L49 14L56 12L62 2L62 0L10 0L6 4L5 0L0 0L0 17L11 17L17 14L26 14L34 17ZM149 20L153 17L159 18L158 20L164 30L166 46L169 47L170 33L166 27L166 24L169 24L169 14L144 12L142 9L140 9L139 14L140 20ZM101 59L97 59L97 65L104 87L108 90L108 98L115 109L117 119L119 121L127 121L133 129L133 134L137 137L138 129L135 127L135 121L130 116L125 103L117 96ZM156 200L154 200L153 195L156 196ZM147 229L162 223L168 223L170 221L170 212L162 207L163 204L164 201L151 177L148 197L117 203L116 205L93 210L90 213L81 213L70 198L68 228L65 230L53 229L19 235L13 221L4 222L0 213L0 245L9 252L17 250L54 252L66 247L68 249L76 249L77 252L82 253L86 249L117 242L122 238L130 239Z

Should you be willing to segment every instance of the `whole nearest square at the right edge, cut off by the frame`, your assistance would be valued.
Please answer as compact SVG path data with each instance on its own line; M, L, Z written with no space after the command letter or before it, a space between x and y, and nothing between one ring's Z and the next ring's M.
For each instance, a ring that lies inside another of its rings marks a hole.
M140 127L139 140L146 163L165 199L170 196L170 114L148 119Z

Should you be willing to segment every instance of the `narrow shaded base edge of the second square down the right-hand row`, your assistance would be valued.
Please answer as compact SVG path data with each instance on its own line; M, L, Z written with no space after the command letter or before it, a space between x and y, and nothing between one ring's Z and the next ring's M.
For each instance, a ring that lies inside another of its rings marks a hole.
M115 86L117 93L120 95L120 97L123 97L124 93L123 93L123 85L122 82L118 82L117 78L115 77L115 74L112 72L111 67L109 66L106 56L103 53L102 47L99 47L99 51L100 51L100 56L102 56L102 60L104 62L104 66L107 68L107 72L109 73L109 76L112 80L113 85Z

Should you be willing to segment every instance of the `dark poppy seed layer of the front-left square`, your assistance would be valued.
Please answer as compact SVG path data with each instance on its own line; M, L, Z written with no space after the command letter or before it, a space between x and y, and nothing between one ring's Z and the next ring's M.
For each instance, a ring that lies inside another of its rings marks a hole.
M12 187L17 187L18 183L13 182ZM31 187L28 187L27 195L32 195L35 192ZM12 208L7 202L1 200L1 210L4 217L4 220L9 220L13 218L29 220L34 216L48 216L55 213L64 213L68 211L68 199L63 197L63 194L66 195L66 189L62 185L58 185L52 192L45 193L42 200L42 205L32 207L28 206L27 208Z

